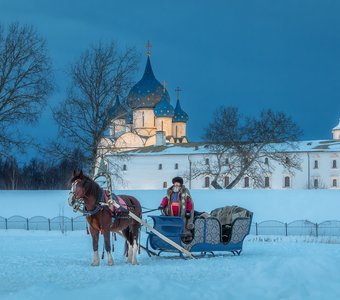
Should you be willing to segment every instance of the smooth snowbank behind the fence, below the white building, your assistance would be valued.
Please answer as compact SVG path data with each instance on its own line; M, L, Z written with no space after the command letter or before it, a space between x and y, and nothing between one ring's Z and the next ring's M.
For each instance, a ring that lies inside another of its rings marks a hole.
M135 196L149 208L157 208L165 195L165 190L116 192ZM340 220L340 190L192 190L191 194L198 211L238 205L254 212L254 222ZM68 191L0 191L0 216L78 216L67 198Z

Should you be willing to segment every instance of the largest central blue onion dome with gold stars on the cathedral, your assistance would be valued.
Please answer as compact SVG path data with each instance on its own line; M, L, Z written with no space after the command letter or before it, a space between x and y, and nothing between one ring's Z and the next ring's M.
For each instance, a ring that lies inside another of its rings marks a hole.
M150 57L146 62L142 79L130 90L127 104L131 109L154 108L162 99L163 85L156 79L151 68ZM165 90L165 97L170 102L169 93Z

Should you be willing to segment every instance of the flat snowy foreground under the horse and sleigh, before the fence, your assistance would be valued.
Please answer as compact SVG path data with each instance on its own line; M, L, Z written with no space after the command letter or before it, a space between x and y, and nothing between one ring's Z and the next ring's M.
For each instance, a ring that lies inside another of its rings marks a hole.
M248 236L244 252L91 267L85 232L0 231L0 299L339 299L339 244ZM332 241L332 240L330 240ZM101 243L100 243L101 245Z

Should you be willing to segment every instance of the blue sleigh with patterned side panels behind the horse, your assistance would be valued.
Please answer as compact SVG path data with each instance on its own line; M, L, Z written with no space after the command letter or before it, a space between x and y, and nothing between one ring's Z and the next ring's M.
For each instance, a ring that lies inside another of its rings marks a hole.
M202 255L215 251L229 251L234 255L240 255L244 238L249 234L253 214L247 213L247 217L238 217L227 226L221 226L220 220L215 217L200 218L194 220L193 239L185 243L181 239L184 222L180 217L149 216L153 220L153 228L166 237L182 246L190 252L200 252ZM227 229L227 230L226 230ZM162 252L177 252L182 254L160 239L154 233L147 231L146 242L147 253L160 255ZM151 249L157 251L155 253Z

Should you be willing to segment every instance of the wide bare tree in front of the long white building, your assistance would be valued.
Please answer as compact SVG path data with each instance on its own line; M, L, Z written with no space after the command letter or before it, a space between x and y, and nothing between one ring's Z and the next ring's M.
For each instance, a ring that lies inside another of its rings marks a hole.
M300 135L298 126L282 112L266 110L258 118L241 118L237 108L220 107L204 134L209 158L193 164L192 177L212 177L216 189L231 189L243 177L252 179L254 187L264 187L273 161L290 173L300 169L292 151Z

